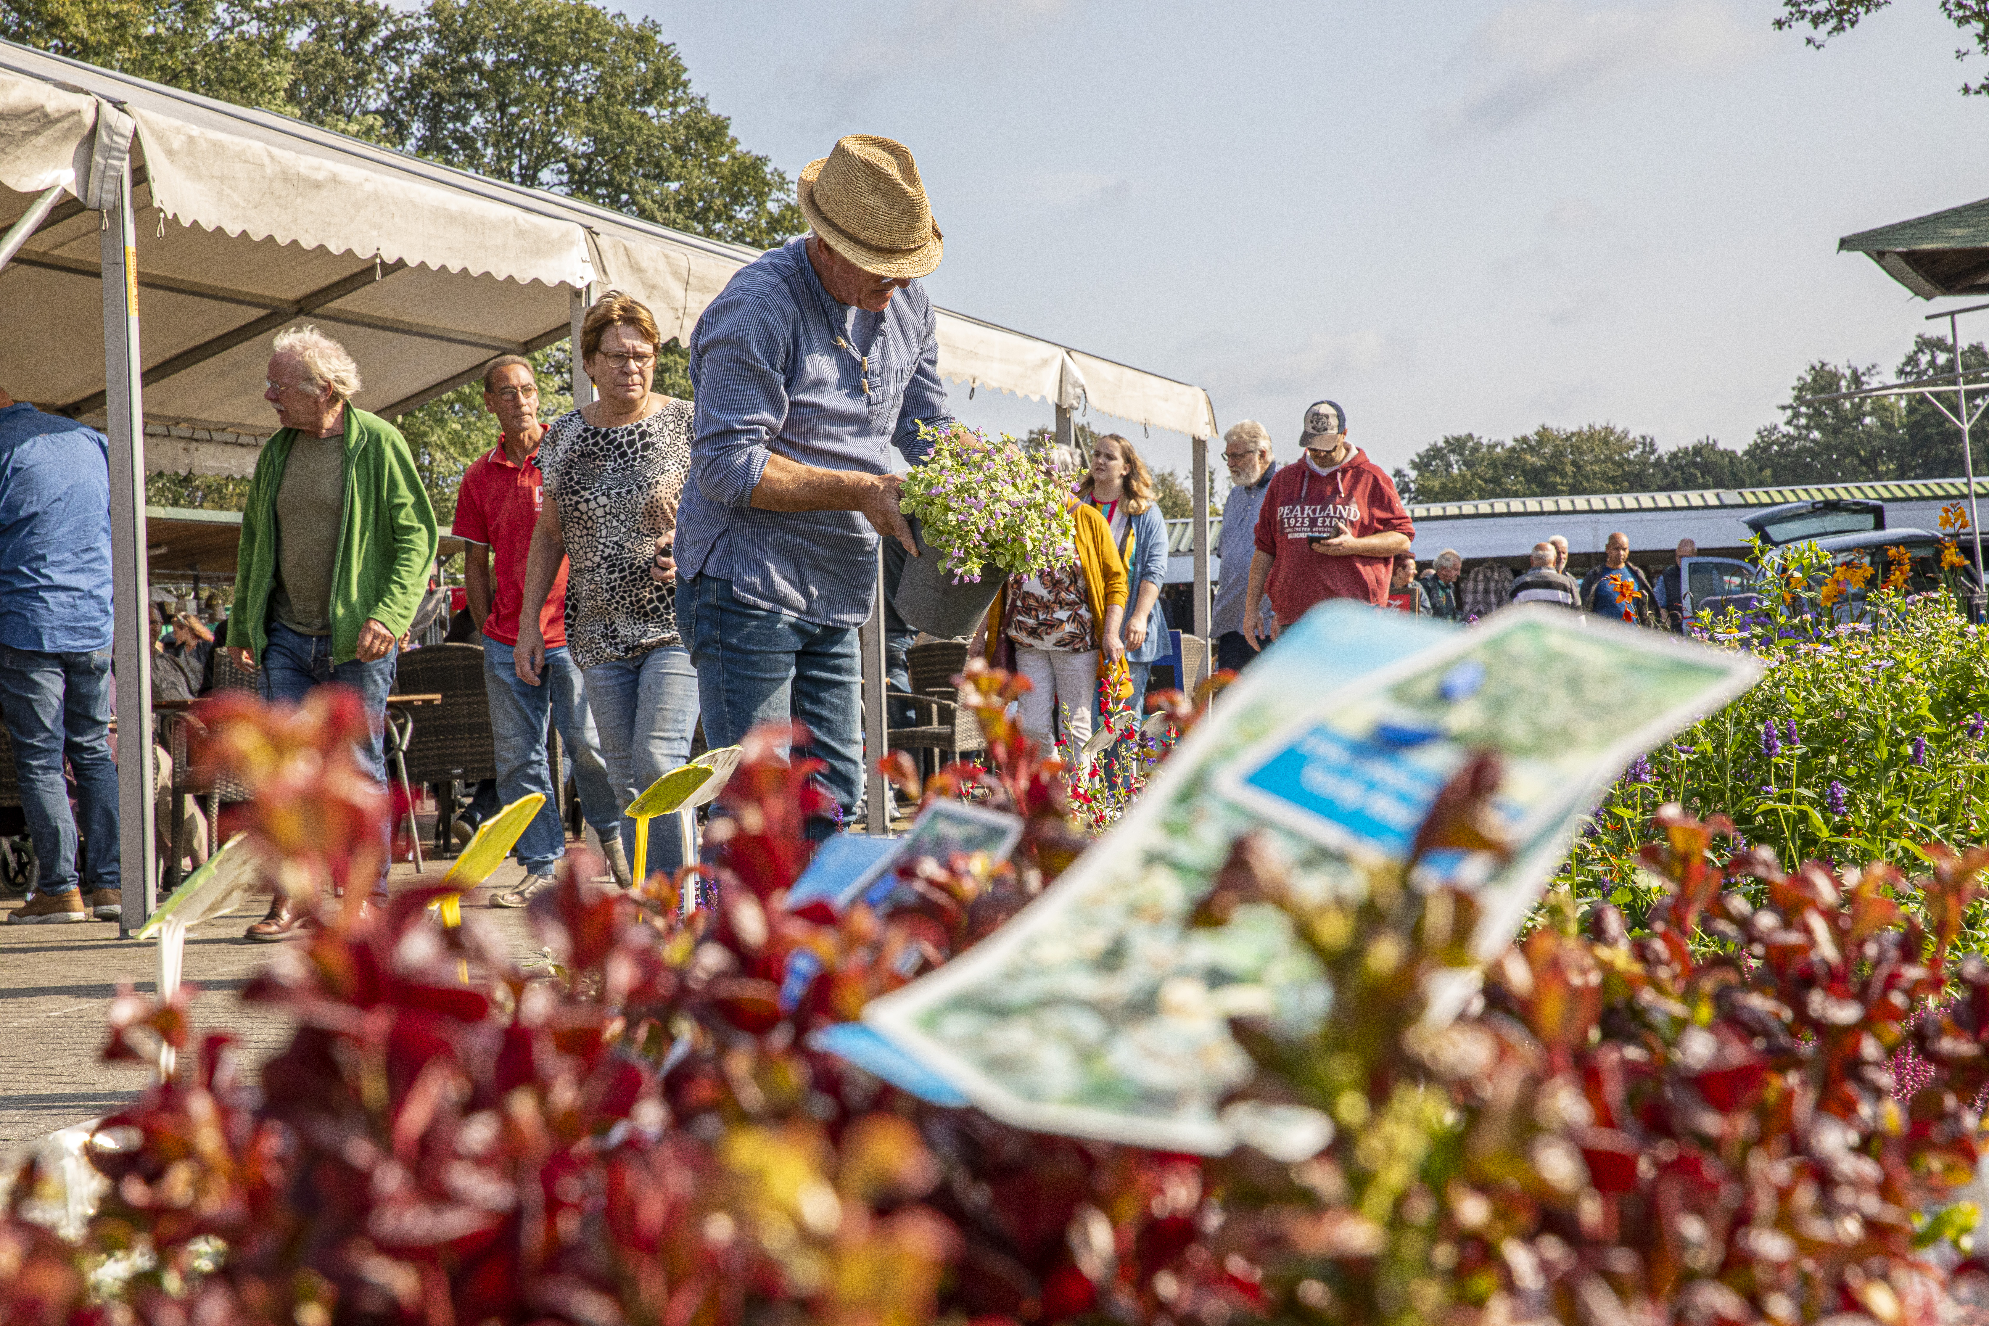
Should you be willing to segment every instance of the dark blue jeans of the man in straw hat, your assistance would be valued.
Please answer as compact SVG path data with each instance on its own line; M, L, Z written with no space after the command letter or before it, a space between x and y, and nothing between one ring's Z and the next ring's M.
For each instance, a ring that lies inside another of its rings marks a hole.
M849 626L756 608L732 596L732 580L698 577L676 594L676 620L698 664L704 740L736 746L760 724L808 724L804 755L841 807L843 823L863 801L863 658ZM817 823L812 833L833 833Z

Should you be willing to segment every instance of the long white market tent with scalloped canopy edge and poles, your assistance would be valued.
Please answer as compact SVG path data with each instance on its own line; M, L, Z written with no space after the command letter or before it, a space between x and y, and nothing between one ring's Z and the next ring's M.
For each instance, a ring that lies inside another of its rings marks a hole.
M151 690L143 475L253 469L272 425L263 370L278 328L310 320L342 340L366 378L358 404L394 417L493 354L565 340L607 286L688 340L758 256L12 42L0 42L0 388L111 439L127 712L147 712ZM1080 406L1189 435L1207 513L1215 415L1201 388L949 310L939 368L1048 398L1066 437ZM1205 555L1197 569L1207 634ZM881 696L875 708L881 724ZM119 767L125 871L151 879L149 744L119 751L137 755ZM125 897L129 930L149 889Z

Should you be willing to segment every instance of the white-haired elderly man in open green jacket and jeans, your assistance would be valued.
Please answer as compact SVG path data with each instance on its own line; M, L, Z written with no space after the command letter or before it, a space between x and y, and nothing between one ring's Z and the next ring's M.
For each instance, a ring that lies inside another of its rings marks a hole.
M408 439L352 406L360 372L346 348L314 326L278 332L274 348L263 400L282 427L249 481L227 650L261 672L271 702L328 682L356 690L372 722L360 755L384 787L396 642L428 588L436 511ZM296 922L278 895L249 938Z

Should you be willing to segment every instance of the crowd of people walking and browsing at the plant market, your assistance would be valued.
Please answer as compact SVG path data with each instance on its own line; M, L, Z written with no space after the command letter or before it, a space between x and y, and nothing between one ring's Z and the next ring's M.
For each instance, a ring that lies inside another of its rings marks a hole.
M547 795L517 841L523 881L497 907L529 903L567 851L549 728L623 885L634 837L625 809L688 759L700 726L718 747L798 722L806 753L823 761L833 819L859 813L857 628L875 606L879 541L887 567L917 557L899 473L951 423L921 284L943 239L911 153L891 139L837 141L802 171L798 195L810 233L744 266L698 318L692 400L654 390L664 336L623 292L581 324L575 360L595 398L577 410L541 419L525 358L483 368L495 439L463 475L452 529L467 549L467 630L483 650L497 769L479 803ZM336 340L280 332L263 386L278 427L249 483L233 604L219 638L189 612L155 614L153 692L207 694L223 656L269 702L350 688L370 718L360 763L384 785L388 694L436 596L436 513L408 441L354 404L360 366ZM1305 412L1285 465L1261 423L1237 423L1223 443L1233 483L1217 547L1229 571L1213 600L1219 668L1249 666L1327 598L1452 620L1490 610L1454 551L1418 575L1410 515L1337 402ZM1032 736L1082 747L1102 714L1144 710L1150 672L1170 654L1168 533L1130 439L1108 433L1088 457L1054 449L1052 461L1072 475L1076 557L1010 577L973 648L1030 680L1020 718ZM38 861L14 924L121 911L107 513L103 435L0 394L0 718ZM1565 541L1541 543L1498 600L1649 620L1661 590L1627 549L1611 535L1605 565L1577 586ZM889 604L885 624L903 666L915 632ZM197 821L169 833L169 815L161 797L163 849L199 859ZM652 843L658 869L682 865L678 855L674 835ZM380 861L376 897L386 843ZM278 893L249 938L306 922Z

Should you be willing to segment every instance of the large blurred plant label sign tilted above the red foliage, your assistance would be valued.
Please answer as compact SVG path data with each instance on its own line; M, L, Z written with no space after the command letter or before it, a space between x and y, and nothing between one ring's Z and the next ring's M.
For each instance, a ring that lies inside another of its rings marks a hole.
M1217 1155L1249 1131L1229 1018L1317 1028L1333 990L1291 918L1189 924L1231 845L1259 833L1301 901L1400 873L1444 783L1478 751L1504 777L1510 855L1428 855L1412 885L1480 901L1496 956L1581 811L1639 751L1744 690L1744 654L1559 608L1464 630L1323 604L1223 692L1126 817L1040 899L863 1020L1020 1127ZM1257 1145L1257 1135L1251 1137Z

